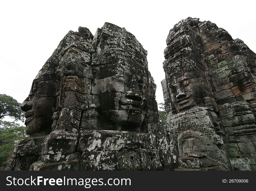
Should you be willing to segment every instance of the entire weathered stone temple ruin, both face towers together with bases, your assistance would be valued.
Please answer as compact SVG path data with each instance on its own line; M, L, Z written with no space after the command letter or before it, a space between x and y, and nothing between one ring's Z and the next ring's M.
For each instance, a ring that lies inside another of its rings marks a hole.
M135 36L70 31L22 103L28 139L5 170L256 170L256 55L209 21L170 30L156 85Z

